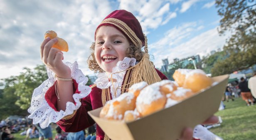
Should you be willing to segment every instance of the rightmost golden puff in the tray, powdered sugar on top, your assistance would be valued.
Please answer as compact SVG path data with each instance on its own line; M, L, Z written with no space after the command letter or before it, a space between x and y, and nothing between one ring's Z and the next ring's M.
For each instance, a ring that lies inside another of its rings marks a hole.
M187 73L183 87L191 89L193 92L199 92L200 90L211 86L212 83L212 79L207 77L203 70L197 69Z

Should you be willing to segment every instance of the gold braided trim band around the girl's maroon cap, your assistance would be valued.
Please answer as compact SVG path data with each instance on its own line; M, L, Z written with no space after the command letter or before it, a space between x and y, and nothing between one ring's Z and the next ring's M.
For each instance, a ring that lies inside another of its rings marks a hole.
M121 29L129 38L130 40L134 43L134 45L136 46L142 46L142 42L141 40L138 38L138 36L134 33L134 31L132 29L130 29L130 27L124 23L123 21L116 19L116 18L108 18L108 19L104 19L101 24L103 23L109 23L109 24L113 24L116 27L118 27L119 29Z

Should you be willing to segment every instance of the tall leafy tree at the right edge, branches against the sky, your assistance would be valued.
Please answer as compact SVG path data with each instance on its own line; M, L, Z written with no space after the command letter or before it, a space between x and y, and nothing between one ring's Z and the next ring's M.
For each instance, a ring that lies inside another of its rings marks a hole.
M219 33L231 31L224 46L228 58L217 61L212 75L229 74L251 67L256 63L256 3L254 0L216 0L222 17Z

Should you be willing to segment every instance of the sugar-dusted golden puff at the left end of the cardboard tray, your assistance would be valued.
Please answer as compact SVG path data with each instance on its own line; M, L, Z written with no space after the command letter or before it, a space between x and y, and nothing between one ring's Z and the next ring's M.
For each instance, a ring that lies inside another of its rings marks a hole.
M100 118L122 120L127 110L135 109L136 98L132 93L123 93L116 99L110 100L103 106Z

